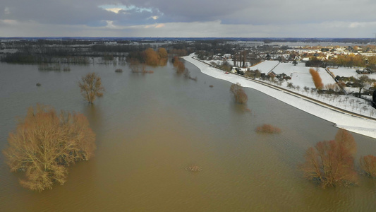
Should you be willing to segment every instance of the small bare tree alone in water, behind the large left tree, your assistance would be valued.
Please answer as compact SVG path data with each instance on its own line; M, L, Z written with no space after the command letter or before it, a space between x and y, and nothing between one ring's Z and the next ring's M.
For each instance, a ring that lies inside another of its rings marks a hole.
M81 89L83 98L90 104L94 102L95 97L101 97L103 95L102 91L104 91L104 88L102 87L102 81L96 73L87 73L78 82L78 86Z

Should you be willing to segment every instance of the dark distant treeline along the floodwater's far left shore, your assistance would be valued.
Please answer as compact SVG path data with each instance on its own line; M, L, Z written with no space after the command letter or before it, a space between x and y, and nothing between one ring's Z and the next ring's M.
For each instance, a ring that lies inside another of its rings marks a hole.
M66 45L62 45L61 43L65 43ZM165 64L167 61L164 58L164 54L167 55L166 48L160 47L156 54L147 50L157 49L152 43L130 45L124 41L123 44L99 43L88 45L90 42L86 41L81 42L82 45L72 45L73 43L73 41L50 42L48 40L7 43L6 45L2 45L2 47L5 47L5 49L17 49L17 52L0 55L0 61L18 64L87 64L90 61L90 57L102 57L105 61L111 61L114 57L126 56L128 56L128 59L138 59L140 63L151 64L153 66L156 64ZM178 48L174 48L174 46L174 44L170 44L167 47L169 54L174 56L188 54L186 45L177 45ZM160 52L160 49L164 49L164 52Z

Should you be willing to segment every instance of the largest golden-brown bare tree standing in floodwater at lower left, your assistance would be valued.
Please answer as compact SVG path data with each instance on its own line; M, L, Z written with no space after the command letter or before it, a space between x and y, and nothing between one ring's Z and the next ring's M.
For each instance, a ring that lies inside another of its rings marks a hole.
M30 107L25 119L9 134L3 151L11 172L25 172L20 184L38 192L64 184L68 166L89 160L95 151L95 134L83 114L47 106Z

